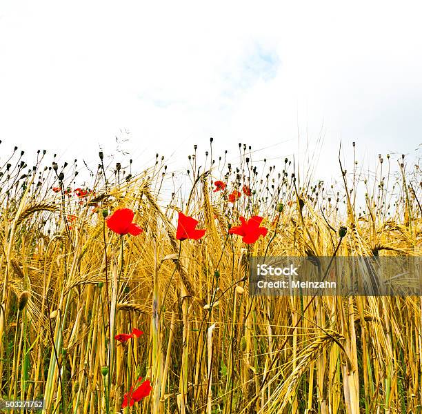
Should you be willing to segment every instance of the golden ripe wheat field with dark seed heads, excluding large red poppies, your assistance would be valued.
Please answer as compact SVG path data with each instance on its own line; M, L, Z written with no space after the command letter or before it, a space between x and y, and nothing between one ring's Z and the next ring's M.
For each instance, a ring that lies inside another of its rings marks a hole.
M195 148L177 173L158 155L142 172L106 159L89 170L42 151L34 166L17 149L1 157L4 401L43 400L48 414L422 412L421 297L248 286L254 256L419 256L417 163L380 156L364 177L356 156L349 170L334 160L330 186L292 159L254 164L241 144L237 164ZM108 228L120 208L141 234ZM179 212L205 236L178 239ZM254 215L265 237L229 233ZM148 395L122 407L145 380Z

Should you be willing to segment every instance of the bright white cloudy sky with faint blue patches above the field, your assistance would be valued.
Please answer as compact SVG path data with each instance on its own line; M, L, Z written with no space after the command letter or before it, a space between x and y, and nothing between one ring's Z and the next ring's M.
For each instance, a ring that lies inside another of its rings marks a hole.
M193 144L338 172L422 142L418 1L23 1L0 5L1 152L97 164ZM116 139L119 141L117 144ZM118 152L123 155L123 152Z

